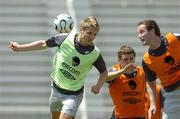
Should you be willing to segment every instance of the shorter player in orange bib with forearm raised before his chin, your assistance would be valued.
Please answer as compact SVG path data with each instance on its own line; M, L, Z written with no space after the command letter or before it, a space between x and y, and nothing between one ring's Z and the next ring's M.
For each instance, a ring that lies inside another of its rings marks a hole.
M144 71L135 64L136 53L122 46L118 63L108 72L109 94L114 104L115 119L145 119L146 80Z

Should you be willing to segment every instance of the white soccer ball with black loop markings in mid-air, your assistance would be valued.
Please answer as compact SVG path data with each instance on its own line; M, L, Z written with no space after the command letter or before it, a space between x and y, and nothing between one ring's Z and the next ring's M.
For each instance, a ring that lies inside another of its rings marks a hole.
M74 21L68 14L59 14L54 19L54 28L58 33L69 33L74 27Z

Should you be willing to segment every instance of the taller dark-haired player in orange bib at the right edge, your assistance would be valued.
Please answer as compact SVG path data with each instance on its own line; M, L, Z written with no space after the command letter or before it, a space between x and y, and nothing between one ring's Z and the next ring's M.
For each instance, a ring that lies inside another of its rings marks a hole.
M164 110L169 119L179 118L180 109L180 34L161 35L154 20L142 20L137 25L138 38L149 46L143 57L143 69L152 90L150 112L156 110L156 79L159 78L165 96ZM151 113L151 114L152 114Z

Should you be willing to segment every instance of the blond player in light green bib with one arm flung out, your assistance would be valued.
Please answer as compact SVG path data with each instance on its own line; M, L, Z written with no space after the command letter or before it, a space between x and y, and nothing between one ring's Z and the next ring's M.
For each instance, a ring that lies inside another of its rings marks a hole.
M86 75L95 66L99 79L91 87L98 94L107 77L107 69L100 50L93 41L100 27L95 17L88 17L80 23L79 33L59 34L48 40L28 44L10 42L16 52L42 50L57 47L53 60L52 90L49 99L52 119L74 119L83 99Z

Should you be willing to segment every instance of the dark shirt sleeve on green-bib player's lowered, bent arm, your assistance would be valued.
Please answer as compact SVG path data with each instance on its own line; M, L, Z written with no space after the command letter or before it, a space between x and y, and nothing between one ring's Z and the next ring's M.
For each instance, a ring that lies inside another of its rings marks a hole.
M96 67L96 69L102 73L104 71L106 71L106 64L105 64L105 61L102 57L102 55L100 54L98 59L93 63L93 65Z

